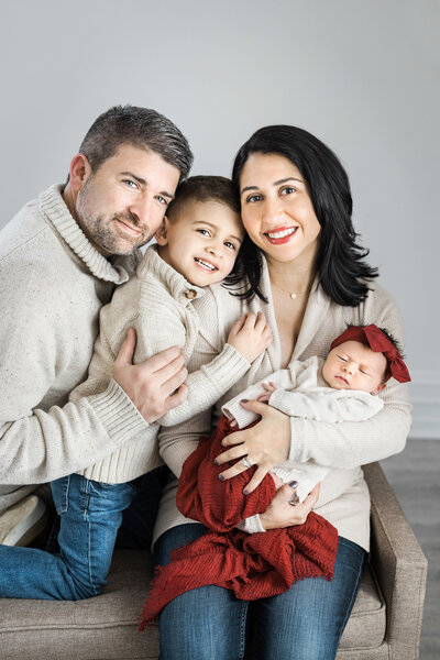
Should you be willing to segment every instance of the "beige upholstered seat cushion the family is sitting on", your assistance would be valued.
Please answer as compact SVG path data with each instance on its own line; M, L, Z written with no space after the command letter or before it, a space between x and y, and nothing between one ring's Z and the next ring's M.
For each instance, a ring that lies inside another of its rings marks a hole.
M117 550L101 596L76 602L0 600L0 657L2 660L157 658L157 626L142 634L136 630L151 575L152 560L147 552ZM340 652L349 658L350 649L378 647L384 634L385 605L367 566Z

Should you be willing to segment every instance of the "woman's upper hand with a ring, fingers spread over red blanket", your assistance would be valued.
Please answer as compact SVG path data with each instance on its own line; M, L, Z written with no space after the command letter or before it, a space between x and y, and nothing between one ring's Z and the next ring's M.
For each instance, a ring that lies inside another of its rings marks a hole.
M272 468L280 465L288 459L290 452L290 418L276 408L258 402L241 402L243 408L261 415L261 420L252 428L237 431L222 440L223 447L230 447L216 459L218 465L237 459L238 461L220 474L220 479L231 479L251 465L257 465L244 493L249 495L263 481Z

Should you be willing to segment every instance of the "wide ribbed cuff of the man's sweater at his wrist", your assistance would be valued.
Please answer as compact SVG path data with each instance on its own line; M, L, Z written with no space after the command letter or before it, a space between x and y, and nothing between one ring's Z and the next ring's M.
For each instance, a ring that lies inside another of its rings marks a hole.
M113 378L105 392L94 394L87 400L117 447L148 427L148 422Z

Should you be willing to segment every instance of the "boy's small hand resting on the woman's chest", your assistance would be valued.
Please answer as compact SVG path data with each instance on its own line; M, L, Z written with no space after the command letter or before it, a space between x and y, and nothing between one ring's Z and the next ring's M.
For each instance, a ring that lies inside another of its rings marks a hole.
M243 355L248 362L253 362L272 343L272 330L262 311L252 311L232 326L228 343Z

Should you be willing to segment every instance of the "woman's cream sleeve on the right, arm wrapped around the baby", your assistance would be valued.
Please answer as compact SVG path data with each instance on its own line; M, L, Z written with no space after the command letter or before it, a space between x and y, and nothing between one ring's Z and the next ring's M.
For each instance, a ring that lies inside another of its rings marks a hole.
M400 312L382 287L376 287L365 301L361 322L386 328L403 345ZM312 460L321 465L352 469L400 452L411 424L408 386L391 380L381 395L383 409L366 421L329 424L292 418L288 462Z

